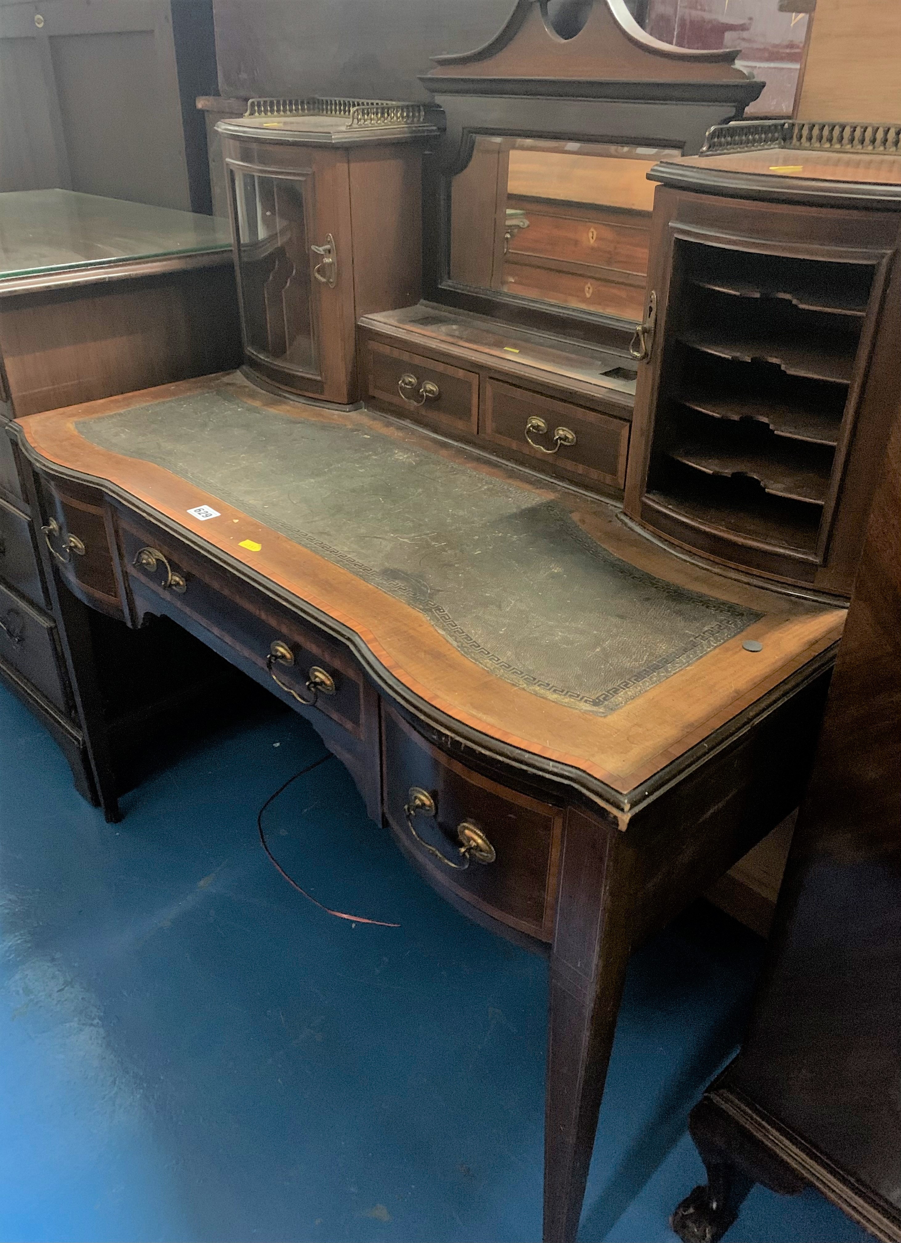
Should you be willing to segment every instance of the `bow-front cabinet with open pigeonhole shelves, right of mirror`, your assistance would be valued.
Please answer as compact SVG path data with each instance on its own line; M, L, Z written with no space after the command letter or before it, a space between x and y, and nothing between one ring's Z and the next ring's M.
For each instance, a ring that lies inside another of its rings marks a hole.
M843 597L901 399L889 131L738 122L650 174L656 322L626 513L732 569Z

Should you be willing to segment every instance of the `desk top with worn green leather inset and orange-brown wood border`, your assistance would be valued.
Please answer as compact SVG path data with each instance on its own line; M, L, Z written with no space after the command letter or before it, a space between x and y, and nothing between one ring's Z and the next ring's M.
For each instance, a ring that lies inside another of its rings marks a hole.
M691 564L584 493L240 375L22 426L43 462L334 619L377 682L613 810L841 634L844 609Z

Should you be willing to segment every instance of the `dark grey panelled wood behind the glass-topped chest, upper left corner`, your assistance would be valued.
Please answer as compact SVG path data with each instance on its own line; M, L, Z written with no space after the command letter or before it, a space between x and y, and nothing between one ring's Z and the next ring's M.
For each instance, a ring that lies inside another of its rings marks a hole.
M211 0L0 0L0 190L209 211Z

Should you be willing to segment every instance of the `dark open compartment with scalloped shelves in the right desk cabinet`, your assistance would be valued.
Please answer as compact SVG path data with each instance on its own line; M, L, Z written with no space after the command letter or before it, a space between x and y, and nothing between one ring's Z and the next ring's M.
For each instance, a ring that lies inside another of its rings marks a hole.
M737 562L748 548L821 562L874 276L674 242L649 525Z

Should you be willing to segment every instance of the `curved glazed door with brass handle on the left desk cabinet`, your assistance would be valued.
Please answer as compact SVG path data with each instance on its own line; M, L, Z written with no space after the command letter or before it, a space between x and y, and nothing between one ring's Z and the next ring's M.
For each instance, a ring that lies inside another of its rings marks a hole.
M241 147L226 163L246 363L290 393L350 401L347 155L295 148L295 167L282 168Z

